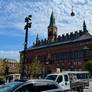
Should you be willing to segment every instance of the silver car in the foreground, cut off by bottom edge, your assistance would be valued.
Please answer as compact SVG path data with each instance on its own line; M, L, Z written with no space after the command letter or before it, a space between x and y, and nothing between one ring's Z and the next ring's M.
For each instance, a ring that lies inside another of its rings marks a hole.
M51 91L52 90L52 91ZM52 80L29 80L11 82L0 88L0 92L64 92Z

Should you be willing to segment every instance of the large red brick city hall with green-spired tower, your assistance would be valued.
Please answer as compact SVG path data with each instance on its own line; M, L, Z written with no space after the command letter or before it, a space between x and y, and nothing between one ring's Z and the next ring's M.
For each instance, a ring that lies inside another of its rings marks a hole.
M39 40L26 50L26 63L31 64L37 56L43 72L84 71L85 63L92 60L92 35L83 21L83 29L75 32L57 34L53 11L48 26L48 38ZM22 52L21 52L22 53Z

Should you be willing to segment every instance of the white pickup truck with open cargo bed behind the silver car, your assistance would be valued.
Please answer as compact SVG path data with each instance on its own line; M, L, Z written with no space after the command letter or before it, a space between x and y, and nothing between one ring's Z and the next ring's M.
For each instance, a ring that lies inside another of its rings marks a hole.
M89 86L88 71L62 71L62 73L48 74L47 80L58 82L63 90L83 92Z

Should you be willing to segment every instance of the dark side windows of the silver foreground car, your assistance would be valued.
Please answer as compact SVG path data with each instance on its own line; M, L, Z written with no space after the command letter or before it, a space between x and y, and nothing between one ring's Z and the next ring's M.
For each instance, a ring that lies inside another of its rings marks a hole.
M58 86L56 84L34 83L34 84L24 85L15 92L42 92L42 91L57 89L57 88Z

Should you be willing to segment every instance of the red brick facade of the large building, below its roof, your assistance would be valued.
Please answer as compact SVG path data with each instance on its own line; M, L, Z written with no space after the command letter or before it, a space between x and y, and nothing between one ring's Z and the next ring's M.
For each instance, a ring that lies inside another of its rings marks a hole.
M87 46L88 56L84 56L84 47ZM73 54L75 53L75 56ZM48 54L50 60L48 61ZM79 41L75 43L68 43L57 45L53 47L41 48L36 50L29 50L27 52L27 60L29 63L33 58L38 57L43 66L46 68L46 62L53 71L59 67L62 70L85 70L85 62L92 60L92 40Z

